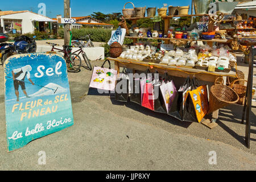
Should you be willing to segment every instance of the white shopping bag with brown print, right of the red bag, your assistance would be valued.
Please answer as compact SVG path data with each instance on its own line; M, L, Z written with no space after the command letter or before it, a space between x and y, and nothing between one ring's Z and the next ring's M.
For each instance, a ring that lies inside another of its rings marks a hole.
M174 84L174 80L168 78L168 74L165 73L164 81L160 85L160 95L163 98L166 112L168 113L171 109L172 102L176 96L177 90Z

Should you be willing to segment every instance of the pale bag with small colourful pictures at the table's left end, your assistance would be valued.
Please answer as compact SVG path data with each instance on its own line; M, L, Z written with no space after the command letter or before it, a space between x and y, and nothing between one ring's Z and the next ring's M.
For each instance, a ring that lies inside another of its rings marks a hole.
M108 61L109 68L104 68L104 64ZM89 88L101 90L110 90L114 92L115 81L117 80L117 71L111 69L110 61L105 60L101 67L94 67L92 78L90 79Z

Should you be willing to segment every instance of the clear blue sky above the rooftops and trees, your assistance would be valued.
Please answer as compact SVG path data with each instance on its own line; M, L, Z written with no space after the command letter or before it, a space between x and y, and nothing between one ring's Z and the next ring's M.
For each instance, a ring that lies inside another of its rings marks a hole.
M63 0L13 0L13 1L1 1L0 9L2 11L13 10L32 10L38 13L38 4L46 4L46 15L50 18L55 18L56 15L63 15L64 1ZM97 1L85 1L85 0L71 0L72 16L86 16L93 12L108 13L122 13L123 5L128 2L127 0L97 0ZM135 7L162 7L163 3L167 3L168 6L191 6L191 0L175 1L175 0L136 0L131 1ZM126 8L131 8L132 5L128 4Z

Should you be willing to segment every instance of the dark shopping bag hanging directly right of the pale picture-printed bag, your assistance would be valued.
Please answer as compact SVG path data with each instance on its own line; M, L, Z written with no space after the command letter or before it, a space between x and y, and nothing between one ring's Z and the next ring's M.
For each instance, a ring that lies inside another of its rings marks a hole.
M129 97L129 75L126 68L119 74L117 85L115 85L115 100L127 102Z

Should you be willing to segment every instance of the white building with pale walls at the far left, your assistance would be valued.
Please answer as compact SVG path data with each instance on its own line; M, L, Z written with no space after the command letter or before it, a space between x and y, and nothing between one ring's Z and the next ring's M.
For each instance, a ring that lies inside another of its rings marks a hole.
M31 11L0 11L0 20L3 32L20 34L32 33L35 30L49 32L52 30L52 22L56 22Z

